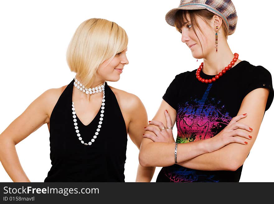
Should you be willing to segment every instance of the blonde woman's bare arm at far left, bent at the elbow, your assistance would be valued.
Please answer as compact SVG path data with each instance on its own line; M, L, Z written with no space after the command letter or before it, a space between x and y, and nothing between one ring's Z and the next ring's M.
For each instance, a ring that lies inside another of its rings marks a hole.
M49 100L53 91L56 90L49 89L36 98L0 134L0 161L13 182L30 182L20 164L15 145L47 123L47 107L50 104Z

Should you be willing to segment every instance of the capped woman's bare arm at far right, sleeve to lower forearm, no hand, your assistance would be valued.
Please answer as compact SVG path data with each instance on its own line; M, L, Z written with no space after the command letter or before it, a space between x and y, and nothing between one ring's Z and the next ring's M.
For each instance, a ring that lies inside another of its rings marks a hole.
M239 113L246 112L248 115L240 121L253 128L252 133L249 133L252 136L252 140L249 140L247 145L231 143L215 152L197 156L179 165L197 170L237 170L243 165L257 138L268 94L268 89L257 88L248 93L243 99ZM241 131L247 132L246 130Z

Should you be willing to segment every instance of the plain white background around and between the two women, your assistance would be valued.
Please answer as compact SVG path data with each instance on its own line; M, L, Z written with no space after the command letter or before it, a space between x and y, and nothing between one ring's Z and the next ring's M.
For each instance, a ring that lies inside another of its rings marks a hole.
M270 38L274 3L233 2L238 24L228 40L232 52L239 53L240 60L264 66L273 76L274 45ZM178 5L179 0L1 1L0 133L45 90L69 84L75 73L70 72L66 63L68 44L78 25L94 17L114 21L126 30L130 63L125 66L120 81L109 85L137 95L146 107L149 120L152 119L175 75L194 70L202 62L196 62L181 42L180 34L165 21L167 11ZM273 114L272 104L243 165L240 182L274 182ZM21 165L31 182L43 182L50 170L49 136L45 124L16 145ZM126 182L135 182L138 153L128 138ZM153 182L160 169L156 168ZM2 165L0 182L12 182Z

